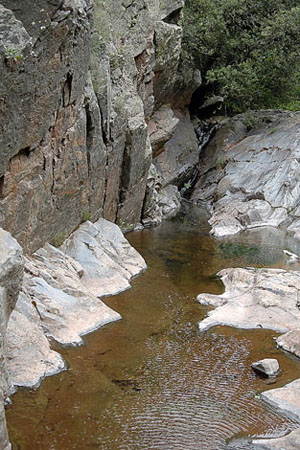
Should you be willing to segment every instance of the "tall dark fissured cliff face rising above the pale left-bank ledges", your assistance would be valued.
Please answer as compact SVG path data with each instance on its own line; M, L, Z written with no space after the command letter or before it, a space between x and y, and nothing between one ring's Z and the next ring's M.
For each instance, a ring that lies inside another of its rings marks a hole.
M182 81L182 7L0 0L0 225L26 252L86 218L141 221L147 125Z

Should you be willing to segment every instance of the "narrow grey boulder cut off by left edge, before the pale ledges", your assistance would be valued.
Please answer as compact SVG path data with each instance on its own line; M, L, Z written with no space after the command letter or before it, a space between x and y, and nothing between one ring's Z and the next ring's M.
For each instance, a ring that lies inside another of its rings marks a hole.
M4 359L4 338L9 316L16 304L23 279L22 250L9 233L0 229L0 450L10 448L4 415L8 377Z

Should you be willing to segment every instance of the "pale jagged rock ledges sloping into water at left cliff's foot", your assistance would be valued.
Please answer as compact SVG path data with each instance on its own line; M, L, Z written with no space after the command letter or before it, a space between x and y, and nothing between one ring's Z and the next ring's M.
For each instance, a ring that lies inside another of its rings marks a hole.
M83 334L120 319L99 297L128 289L130 279L145 268L119 227L105 219L84 223L61 249L46 244L26 257L7 333L11 382L34 386L63 370L64 361L47 337L81 344Z

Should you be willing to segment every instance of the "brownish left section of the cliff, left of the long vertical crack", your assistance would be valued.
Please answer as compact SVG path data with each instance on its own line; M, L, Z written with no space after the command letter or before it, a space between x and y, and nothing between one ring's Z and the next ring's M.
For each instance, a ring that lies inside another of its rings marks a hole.
M0 223L31 251L89 210L92 0L0 3Z

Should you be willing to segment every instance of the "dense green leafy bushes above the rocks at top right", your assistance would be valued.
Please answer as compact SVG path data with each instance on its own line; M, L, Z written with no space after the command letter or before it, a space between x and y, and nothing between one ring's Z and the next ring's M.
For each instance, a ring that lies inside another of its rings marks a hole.
M299 107L299 0L186 0L183 57L230 112Z

